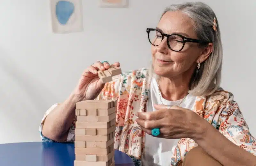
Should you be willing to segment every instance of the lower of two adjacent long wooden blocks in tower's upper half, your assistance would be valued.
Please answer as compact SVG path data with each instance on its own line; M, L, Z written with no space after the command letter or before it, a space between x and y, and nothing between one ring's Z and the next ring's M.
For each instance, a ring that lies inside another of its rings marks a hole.
M114 119L116 121L116 119ZM110 121L111 122L111 121ZM110 122L78 122L76 121L77 129L91 128L91 129L107 129Z

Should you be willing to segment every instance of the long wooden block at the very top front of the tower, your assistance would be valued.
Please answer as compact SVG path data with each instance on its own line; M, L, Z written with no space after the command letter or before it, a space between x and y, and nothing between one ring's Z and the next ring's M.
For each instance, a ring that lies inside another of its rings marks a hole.
M113 107L112 102L112 100L84 100L76 103L76 109L109 109Z

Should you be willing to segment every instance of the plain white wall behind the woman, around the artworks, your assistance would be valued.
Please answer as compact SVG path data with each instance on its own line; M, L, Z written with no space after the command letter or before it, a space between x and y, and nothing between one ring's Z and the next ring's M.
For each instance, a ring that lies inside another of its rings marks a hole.
M129 8L109 9L83 0L84 32L53 34L48 0L0 0L0 143L40 141L44 112L68 97L93 62L119 61L123 71L147 67L146 28L155 27L164 7L176 2L182 1L130 0ZM222 86L234 93L256 136L256 2L204 2L221 28Z

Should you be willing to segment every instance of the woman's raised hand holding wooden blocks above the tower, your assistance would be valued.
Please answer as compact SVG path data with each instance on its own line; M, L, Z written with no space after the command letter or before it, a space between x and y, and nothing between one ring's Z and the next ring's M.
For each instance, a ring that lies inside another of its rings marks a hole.
M111 66L120 67L118 62L110 65L108 62L95 62L87 69L84 70L76 88L74 89L72 95L75 97L75 101L79 102L82 100L93 100L95 99L104 88L104 83L98 76L98 71L104 71L109 69Z

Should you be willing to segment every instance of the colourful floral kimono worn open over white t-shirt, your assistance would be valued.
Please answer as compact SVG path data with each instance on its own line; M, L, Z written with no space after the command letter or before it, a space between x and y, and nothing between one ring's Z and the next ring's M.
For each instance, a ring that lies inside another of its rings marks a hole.
M124 72L105 85L98 99L117 100L115 149L129 155L139 166L143 155L145 132L135 122L136 112L146 112L150 81L148 69ZM52 141L42 135L42 126L48 113L58 104L48 109L39 127L43 141ZM237 146L256 155L256 141L250 134L243 115L233 100L233 94L219 89L210 96L196 98L193 110L198 116L211 123L220 133ZM75 140L75 119L69 130L68 140ZM171 166L178 166L186 153L198 146L189 138L180 139L171 157Z

